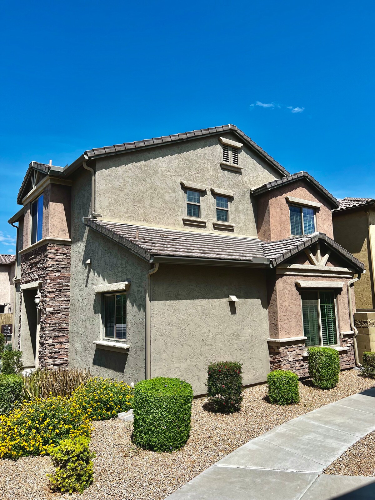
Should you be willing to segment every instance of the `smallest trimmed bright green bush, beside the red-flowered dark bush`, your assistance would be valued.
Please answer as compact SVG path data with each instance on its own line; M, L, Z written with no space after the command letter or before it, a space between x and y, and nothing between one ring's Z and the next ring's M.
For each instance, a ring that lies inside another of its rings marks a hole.
M268 397L272 404L299 401L298 376L289 370L273 370L267 375Z

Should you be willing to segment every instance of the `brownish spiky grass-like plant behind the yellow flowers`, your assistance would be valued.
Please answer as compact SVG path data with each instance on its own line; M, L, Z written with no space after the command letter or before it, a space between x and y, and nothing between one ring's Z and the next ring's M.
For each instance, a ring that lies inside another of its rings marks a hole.
M90 376L85 368L35 368L28 376L23 376L23 399L70 396Z

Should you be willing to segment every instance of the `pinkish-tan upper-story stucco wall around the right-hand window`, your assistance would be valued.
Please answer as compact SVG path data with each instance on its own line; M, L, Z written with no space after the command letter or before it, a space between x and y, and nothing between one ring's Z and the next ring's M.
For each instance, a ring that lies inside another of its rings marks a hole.
M333 237L332 214L326 199L311 184L297 180L257 196L259 199L257 207L259 238L277 240L291 235L289 202L285 198L287 195L321 203L321 207L315 212L315 231L324 232L327 236Z

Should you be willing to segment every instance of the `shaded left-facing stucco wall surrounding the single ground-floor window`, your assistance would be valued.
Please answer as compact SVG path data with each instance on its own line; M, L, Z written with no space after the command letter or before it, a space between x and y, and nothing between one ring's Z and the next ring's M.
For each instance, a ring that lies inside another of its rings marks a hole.
M94 375L136 383L144 378L144 310L149 264L82 223L90 205L90 174L80 171L72 187L71 298L69 366L88 367ZM85 264L91 259L91 265ZM131 280L127 292L126 351L93 344L101 333L101 296L93 287Z

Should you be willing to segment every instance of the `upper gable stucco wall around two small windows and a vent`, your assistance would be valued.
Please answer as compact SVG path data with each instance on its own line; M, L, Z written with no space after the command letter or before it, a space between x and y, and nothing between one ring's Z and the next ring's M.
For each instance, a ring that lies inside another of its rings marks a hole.
M231 133L222 135L238 140ZM235 224L234 233L256 237L250 188L281 175L245 145L239 154L242 173L221 169L220 161L218 136L98 158L96 212L103 215L103 220L213 232L216 212L210 187L221 188L234 192L234 197L229 198L229 222ZM186 194L180 180L207 187L201 197L201 217L207 220L206 227L183 224Z

